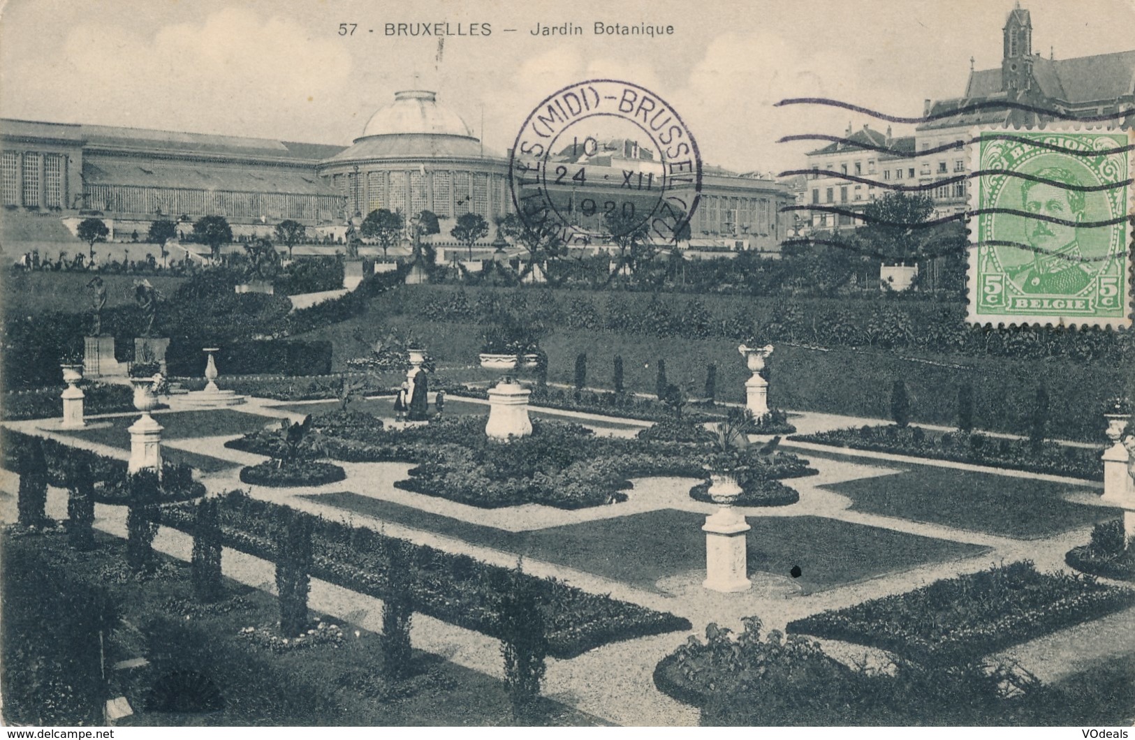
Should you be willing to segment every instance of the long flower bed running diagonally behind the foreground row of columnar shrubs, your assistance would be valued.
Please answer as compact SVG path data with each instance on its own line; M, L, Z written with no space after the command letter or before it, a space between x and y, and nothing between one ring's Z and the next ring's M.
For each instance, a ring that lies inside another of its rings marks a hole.
M267 560L275 558L278 504L249 498L239 491L220 497L225 546ZM302 514L308 516L306 514ZM508 588L513 572L466 555L453 555L423 545L397 540L372 530L313 519L314 550L311 574L337 586L385 598L394 548L409 550L413 608L442 621L499 638L495 609L498 594ZM163 506L161 522L185 532L194 527L187 504ZM570 658L616 640L688 630L690 623L673 614L655 612L609 596L588 594L554 579L532 579L539 591L549 655Z

